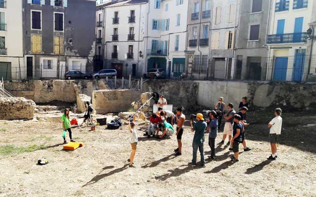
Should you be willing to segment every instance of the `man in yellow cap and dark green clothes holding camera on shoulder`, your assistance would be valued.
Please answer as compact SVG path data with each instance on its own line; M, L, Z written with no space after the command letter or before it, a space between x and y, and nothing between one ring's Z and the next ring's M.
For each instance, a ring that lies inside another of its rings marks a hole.
M194 137L193 137L193 159L192 162L188 163L189 165L196 166L196 153L197 153L197 148L200 151L201 154L201 166L205 167L205 160L204 160L204 131L207 127L206 122L204 122L204 118L202 114L197 114L196 115L196 120L197 122L194 123L191 120L191 132L194 132Z

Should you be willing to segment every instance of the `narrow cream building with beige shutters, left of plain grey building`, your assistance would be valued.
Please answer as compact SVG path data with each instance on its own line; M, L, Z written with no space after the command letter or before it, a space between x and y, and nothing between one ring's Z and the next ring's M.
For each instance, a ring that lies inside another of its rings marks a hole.
M213 0L211 20L210 77L231 79L235 37L241 0Z

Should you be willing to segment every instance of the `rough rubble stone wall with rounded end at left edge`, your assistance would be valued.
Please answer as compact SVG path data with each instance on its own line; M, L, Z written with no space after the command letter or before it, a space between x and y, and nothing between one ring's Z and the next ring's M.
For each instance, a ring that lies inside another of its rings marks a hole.
M25 98L0 98L0 119L15 120L34 117L35 102Z

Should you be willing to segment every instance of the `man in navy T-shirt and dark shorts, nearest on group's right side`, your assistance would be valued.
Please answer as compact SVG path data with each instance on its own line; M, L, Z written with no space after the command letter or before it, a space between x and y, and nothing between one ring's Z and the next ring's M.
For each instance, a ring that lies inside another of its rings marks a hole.
M232 149L234 152L234 156L231 156L231 161L233 163L238 162L238 156L239 156L239 144L242 143L242 131L244 129L243 124L240 122L242 118L240 115L235 114L234 115L234 127L233 127L233 137L231 139L232 142Z

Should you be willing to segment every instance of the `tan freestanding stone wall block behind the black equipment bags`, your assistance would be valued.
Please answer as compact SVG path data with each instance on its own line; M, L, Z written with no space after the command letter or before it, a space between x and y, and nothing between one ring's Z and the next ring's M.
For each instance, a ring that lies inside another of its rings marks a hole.
M96 114L126 112L133 109L131 103L140 99L140 91L134 90L94 90L92 107Z

